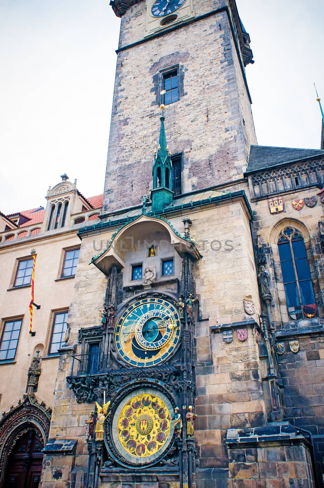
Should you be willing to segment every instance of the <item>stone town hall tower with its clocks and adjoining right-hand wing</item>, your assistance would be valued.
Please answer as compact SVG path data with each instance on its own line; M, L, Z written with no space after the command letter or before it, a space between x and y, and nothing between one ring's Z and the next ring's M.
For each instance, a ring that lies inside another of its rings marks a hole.
M322 487L324 151L257 146L235 0L110 5L103 206L78 232L41 487Z

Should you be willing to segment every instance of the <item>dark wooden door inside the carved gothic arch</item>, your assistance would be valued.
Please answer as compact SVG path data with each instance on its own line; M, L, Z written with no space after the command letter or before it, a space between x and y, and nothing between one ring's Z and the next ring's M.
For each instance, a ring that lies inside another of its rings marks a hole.
M38 488L43 461L40 432L29 430L15 444L8 457L5 486L8 488Z

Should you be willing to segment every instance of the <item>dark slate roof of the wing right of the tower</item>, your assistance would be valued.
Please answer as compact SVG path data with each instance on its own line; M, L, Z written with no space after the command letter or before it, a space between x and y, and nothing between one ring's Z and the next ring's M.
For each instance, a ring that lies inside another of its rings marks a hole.
M269 169L277 164L297 162L305 158L324 156L320 149L295 149L293 147L251 146L246 173Z

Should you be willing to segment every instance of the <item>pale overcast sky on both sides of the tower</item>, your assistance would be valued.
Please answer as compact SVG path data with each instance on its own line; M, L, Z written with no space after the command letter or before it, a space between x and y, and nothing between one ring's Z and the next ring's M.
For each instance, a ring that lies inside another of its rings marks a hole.
M237 5L258 143L319 148L323 0ZM45 205L62 173L85 196L102 193L119 26L109 0L0 0L3 213Z

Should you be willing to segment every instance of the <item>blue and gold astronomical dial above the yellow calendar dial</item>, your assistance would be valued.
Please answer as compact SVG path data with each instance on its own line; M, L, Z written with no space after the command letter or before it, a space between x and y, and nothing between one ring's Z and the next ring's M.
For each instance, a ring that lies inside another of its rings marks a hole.
M174 305L161 298L143 298L130 305L117 322L116 348L132 366L154 366L174 351L180 332Z

